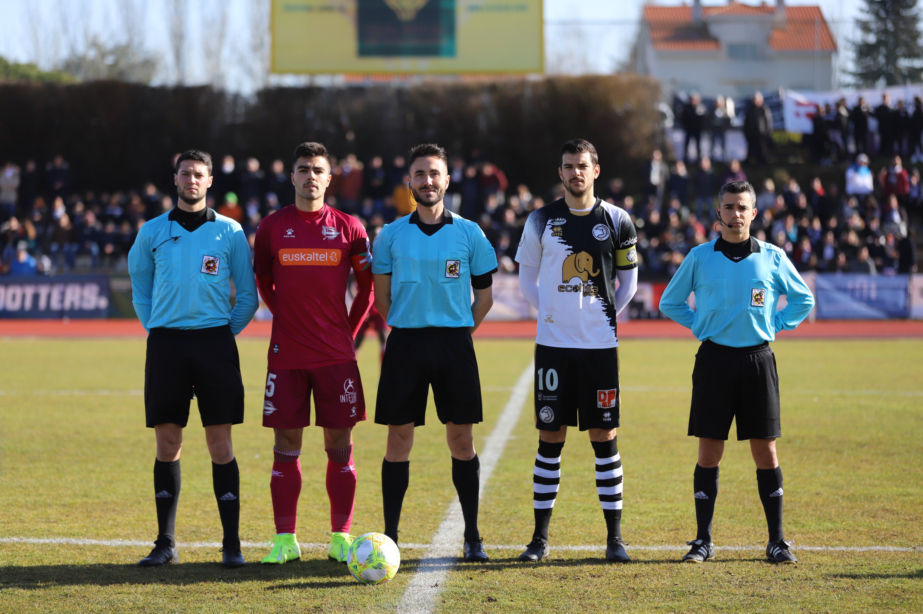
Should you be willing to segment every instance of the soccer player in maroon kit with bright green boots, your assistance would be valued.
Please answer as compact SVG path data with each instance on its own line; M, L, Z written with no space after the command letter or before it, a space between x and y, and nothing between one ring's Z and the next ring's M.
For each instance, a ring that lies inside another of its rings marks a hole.
M263 426L275 431L270 491L277 535L262 562L301 556L294 535L301 493L298 456L304 427L311 424L312 391L328 456L328 554L345 562L355 498L353 427L366 419L354 338L372 303L371 256L362 224L324 203L330 185L327 148L302 143L292 166L294 205L259 223L255 244L259 295L273 316ZM347 314L351 267L358 290Z

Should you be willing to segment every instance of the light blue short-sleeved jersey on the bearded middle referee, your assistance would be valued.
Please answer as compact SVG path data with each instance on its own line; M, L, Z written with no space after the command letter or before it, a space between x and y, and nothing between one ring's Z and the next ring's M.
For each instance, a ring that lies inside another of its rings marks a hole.
M474 326L471 276L497 270L494 248L476 223L454 213L432 236L412 218L406 215L382 228L372 248L372 272L391 275L388 324L401 329Z

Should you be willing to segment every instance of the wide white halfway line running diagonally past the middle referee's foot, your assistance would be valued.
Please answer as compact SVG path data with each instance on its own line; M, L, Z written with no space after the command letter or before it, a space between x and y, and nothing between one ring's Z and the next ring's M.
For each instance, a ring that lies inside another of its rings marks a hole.
M509 401L503 408L497 420L497 426L487 438L484 449L481 451L481 488L479 497L484 497L487 482L497 466L497 461L503 456L509 435L512 433L522 413L522 406L532 390L533 363L522 371L516 381ZM464 540L464 518L462 506L456 497L449 505L445 520L439 524L433 541L426 548L426 554L420 561L420 566L411 578L410 584L404 590L398 614L429 614L433 611L436 597L442 590L440 584L445 584L449 568L458 560L459 544Z

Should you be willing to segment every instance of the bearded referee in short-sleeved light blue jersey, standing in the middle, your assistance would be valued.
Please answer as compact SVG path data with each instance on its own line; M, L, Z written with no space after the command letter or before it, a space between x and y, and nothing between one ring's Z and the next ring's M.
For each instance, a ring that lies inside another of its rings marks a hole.
M392 328L375 407L375 421L388 425L388 450L381 464L385 535L398 540L414 427L426 423L432 385L439 421L446 425L452 482L462 504L464 558L487 560L477 530L481 464L472 424L481 422L482 412L471 333L493 305L490 286L497 255L477 224L443 204L449 187L446 150L417 145L409 163L417 209L385 226L372 249L375 304Z

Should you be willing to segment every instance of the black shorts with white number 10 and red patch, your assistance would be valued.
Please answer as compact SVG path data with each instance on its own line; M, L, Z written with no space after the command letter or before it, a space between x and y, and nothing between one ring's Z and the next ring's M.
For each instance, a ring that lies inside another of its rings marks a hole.
M535 427L618 427L618 348L535 344Z

